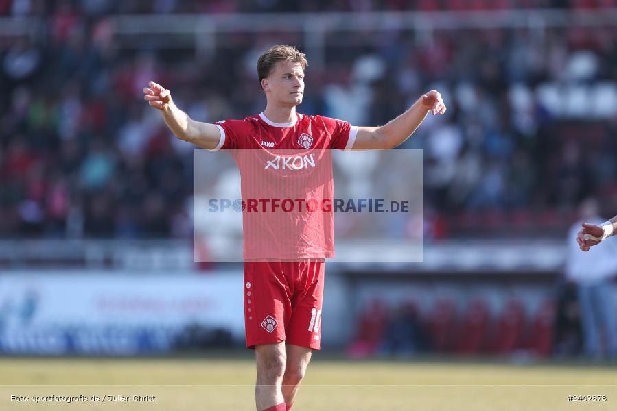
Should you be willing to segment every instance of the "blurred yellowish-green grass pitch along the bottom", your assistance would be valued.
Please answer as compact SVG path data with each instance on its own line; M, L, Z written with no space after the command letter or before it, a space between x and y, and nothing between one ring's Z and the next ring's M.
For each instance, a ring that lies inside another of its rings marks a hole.
M246 356L1 358L0 410L254 410L254 382ZM616 364L348 361L317 353L293 411L567 409L616 410Z

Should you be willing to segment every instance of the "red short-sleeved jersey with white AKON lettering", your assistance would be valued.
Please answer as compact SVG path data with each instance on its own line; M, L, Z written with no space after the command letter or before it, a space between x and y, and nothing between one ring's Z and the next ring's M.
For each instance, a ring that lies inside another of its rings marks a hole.
M229 150L240 169L244 259L334 257L329 149L351 149L358 128L304 114L274 123L263 113L215 125L214 150Z

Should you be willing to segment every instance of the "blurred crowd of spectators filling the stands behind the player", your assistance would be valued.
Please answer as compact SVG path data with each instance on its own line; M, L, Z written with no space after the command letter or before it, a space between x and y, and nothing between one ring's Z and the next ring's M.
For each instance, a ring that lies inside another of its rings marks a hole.
M429 3L525 4L413 8ZM265 107L259 53L274 42L305 50L301 32L235 33L205 59L147 41L135 49L115 38L106 14L402 4L0 0L0 15L45 17L38 36L0 36L1 236L190 238L195 147L168 132L141 89L156 80L196 120L242 119ZM447 114L429 116L402 146L424 151L425 238L537 227L561 235L590 196L615 214L617 27L330 29L325 64L308 60L305 114L379 125L426 90L444 95ZM218 172L220 155L209 158Z

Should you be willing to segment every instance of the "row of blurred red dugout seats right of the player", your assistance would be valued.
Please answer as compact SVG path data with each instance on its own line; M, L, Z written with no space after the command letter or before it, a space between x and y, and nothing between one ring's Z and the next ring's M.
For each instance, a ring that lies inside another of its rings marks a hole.
M554 349L560 342L555 339L555 304L550 299L534 312L517 298L503 301L498 308L482 297L465 303L439 298L427 307L413 300L391 305L373 299L358 316L347 354L353 358L425 353L529 358L557 355Z

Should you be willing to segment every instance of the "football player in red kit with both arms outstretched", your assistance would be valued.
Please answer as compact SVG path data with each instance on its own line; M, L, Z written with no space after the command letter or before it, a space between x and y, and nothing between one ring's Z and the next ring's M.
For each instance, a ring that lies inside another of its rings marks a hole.
M327 155L310 154L323 154L328 149L391 149L407 140L428 112L443 114L446 110L439 92L431 90L381 127L355 127L346 121L299 114L296 105L302 102L306 66L306 56L290 46L274 46L261 55L257 72L266 93L266 109L244 120L214 124L194 121L174 105L170 90L154 82L143 88L144 99L161 110L165 123L181 140L209 150L235 151L243 199L253 198L247 195L255 190L251 184L253 171L264 176L259 184L274 184L276 189L281 178L285 184L291 180L292 186L298 186L305 180L299 177L302 173L294 172L308 169L320 169L321 183L306 188L302 195L329 198L331 164L324 160ZM251 166L256 162L238 160L244 155L238 153L240 149L253 149L257 156L264 155L269 160L257 170ZM277 155L277 149L305 155L286 158ZM320 168L320 164L329 164L329 171L327 166ZM274 206L273 203L272 199L268 206ZM249 206L261 204L246 204L247 209ZM247 218L252 218L251 224L247 224ZM274 217L252 217L250 212L243 212L246 345L255 349L257 410L285 411L294 402L312 351L320 348L324 259L334 256L334 224L331 212L301 214L294 219L291 231L296 229L297 235L287 236L279 234L290 232L289 221L276 220L272 224L268 218Z

